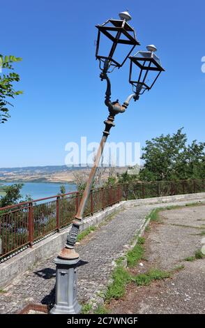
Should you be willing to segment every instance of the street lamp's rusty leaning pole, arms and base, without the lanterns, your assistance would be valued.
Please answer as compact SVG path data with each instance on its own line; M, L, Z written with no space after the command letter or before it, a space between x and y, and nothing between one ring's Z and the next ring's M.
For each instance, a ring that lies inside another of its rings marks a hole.
M93 167L91 168L91 172L89 174L89 179L86 183L86 188L84 189L84 193L82 195L81 202L79 204L79 207L77 209L77 214L75 216L75 220L73 221L73 225L70 229L70 232L67 236L67 241L65 247L61 250L59 253L57 259L55 260L56 263L56 304L54 305L54 310L51 311L51 313L79 313L80 307L77 303L77 297L75 294L75 285L77 285L77 279L74 279L73 271L71 271L70 279L68 274L68 279L63 279L61 275L67 274L68 272L65 270L61 270L61 267L70 267L70 269L73 270L74 267L77 266L77 263L79 262L79 254L75 251L75 244L77 241L77 234L79 232L79 225L82 221L84 210L86 209L86 204L89 200L89 194L91 192L91 188L93 186L93 181L96 176L96 170L98 168L98 165L100 163L100 158L102 156L103 149L105 147L105 143L107 141L107 137L109 135L109 131L114 126L114 117L116 114L123 113L126 111L126 108L128 107L130 100L134 98L137 100L139 98L136 98L136 94L131 94L126 101L121 105L118 100L111 102L110 96L111 96L111 84L109 81L109 77L107 76L107 70L109 69L109 61L105 61L104 68L102 70L102 73L100 74L101 80L107 81L107 90L105 92L105 105L108 107L109 110L109 116L104 121L105 123L105 130L102 133L102 139L100 141L100 146L98 148L98 152L96 154L96 160L93 164ZM91 196L92 197L92 196ZM93 202L91 202L91 206L93 207ZM93 209L92 209L93 211ZM60 270L59 270L59 263L60 263ZM70 286L70 287L69 287ZM65 299L69 299L69 289L70 288L70 304L67 304L68 302L65 301ZM66 290L66 296L61 301L61 297L58 298L58 296L61 294L61 291ZM72 295L75 295L75 298L72 297ZM59 302L61 303L60 306ZM77 306L73 306L77 304Z

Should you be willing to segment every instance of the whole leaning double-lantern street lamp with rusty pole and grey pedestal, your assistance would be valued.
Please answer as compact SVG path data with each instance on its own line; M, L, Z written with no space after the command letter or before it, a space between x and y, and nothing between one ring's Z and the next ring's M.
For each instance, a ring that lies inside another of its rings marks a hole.
M160 59L155 55L156 48L154 45L147 46L146 52L139 51L134 56L130 56L136 45L139 45L139 42L136 38L135 30L128 24L128 21L131 20L128 11L119 13L119 17L119 20L107 20L104 24L96 26L98 29L96 59L99 60L101 70L100 79L106 80L107 82L105 105L108 108L109 115L104 121L105 130L102 132L102 139L96 154L96 159L91 168L82 200L67 237L66 245L54 260L56 263L56 302L51 311L51 313L54 314L75 314L80 311L80 306L77 302L77 265L79 262L79 254L75 251L75 244L84 210L89 200L96 170L100 163L109 131L112 126L114 126L114 118L116 114L126 111L132 98L136 101L141 94L144 94L144 91L149 91L153 87L153 84L155 84L160 73L164 70L160 64ZM100 49L102 36L111 41L111 46L109 48L102 47L102 49ZM121 56L121 45L130 47L124 57ZM120 56L117 54L120 54ZM111 73L115 68L121 68L128 58L130 59L129 82L132 84L132 94L130 94L123 105L121 105L119 100L111 101L111 83L107 74Z

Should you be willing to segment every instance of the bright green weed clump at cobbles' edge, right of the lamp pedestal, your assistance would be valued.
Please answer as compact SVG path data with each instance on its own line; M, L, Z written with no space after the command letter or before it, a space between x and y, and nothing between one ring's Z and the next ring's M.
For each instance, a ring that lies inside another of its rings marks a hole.
M105 299L120 299L125 295L126 285L131 276L123 267L116 267L112 273L112 283L108 286Z

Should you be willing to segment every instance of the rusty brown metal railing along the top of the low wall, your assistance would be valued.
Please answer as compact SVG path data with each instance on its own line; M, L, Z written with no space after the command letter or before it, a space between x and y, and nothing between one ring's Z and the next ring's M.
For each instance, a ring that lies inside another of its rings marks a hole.
M84 217L121 200L205 192L204 180L130 182L93 189ZM0 261L70 225L82 193L66 193L0 208Z

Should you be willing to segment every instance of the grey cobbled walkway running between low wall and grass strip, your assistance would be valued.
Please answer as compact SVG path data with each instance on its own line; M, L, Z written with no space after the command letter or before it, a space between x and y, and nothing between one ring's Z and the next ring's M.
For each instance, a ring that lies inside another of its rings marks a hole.
M137 231L144 225L151 209L187 203L188 201L180 201L132 207L116 214L111 221L89 234L77 247L82 260L87 262L78 269L79 301L89 301L100 290L105 289L114 260L127 249ZM55 255L33 267L33 271L27 271L8 285L4 292L0 292L0 313L17 313L29 303L54 303L54 257Z

